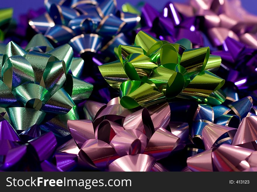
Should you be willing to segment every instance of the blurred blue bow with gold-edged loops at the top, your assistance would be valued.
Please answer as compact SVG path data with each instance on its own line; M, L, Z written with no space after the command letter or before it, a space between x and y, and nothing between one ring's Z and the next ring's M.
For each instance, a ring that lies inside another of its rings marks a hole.
M116 10L116 0L45 1L47 13L29 21L38 33L56 44L69 43L77 53L113 51L128 42L123 32L132 30L140 16Z

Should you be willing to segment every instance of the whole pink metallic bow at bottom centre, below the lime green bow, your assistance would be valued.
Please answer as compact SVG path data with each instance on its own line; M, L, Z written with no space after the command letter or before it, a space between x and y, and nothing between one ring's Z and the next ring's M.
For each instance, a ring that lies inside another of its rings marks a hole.
M185 146L188 124L169 124L170 107L165 102L139 110L123 108L119 102L119 98L107 105L86 101L88 119L68 121L74 140L58 148L58 153L77 154L79 164L91 169L164 171L156 160Z

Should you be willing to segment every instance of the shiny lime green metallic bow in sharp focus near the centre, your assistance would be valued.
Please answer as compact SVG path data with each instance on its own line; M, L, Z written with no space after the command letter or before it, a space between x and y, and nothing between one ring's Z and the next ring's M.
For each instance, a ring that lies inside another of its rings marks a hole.
M99 70L110 86L119 89L125 108L175 99L225 101L218 90L224 79L210 72L219 68L221 58L210 55L209 47L192 49L188 39L172 44L140 31L135 45L120 45L115 52L119 60L100 65Z

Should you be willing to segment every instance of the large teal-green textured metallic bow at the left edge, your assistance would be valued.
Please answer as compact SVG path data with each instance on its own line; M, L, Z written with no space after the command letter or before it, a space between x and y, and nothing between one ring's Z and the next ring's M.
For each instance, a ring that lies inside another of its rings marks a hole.
M73 58L70 45L54 49L41 34L25 50L9 42L0 54L0 107L13 127L26 130L38 124L58 136L68 135L67 120L79 118L76 103L93 90L92 84L76 77L83 63ZM74 75L68 73L71 68Z

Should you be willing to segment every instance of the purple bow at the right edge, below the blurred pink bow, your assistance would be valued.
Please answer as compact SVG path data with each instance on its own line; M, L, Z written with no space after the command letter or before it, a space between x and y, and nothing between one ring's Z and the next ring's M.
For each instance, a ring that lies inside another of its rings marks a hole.
M213 54L223 59L224 65L220 73L223 73L227 81L234 83L242 92L252 94L251 90L256 89L257 84L255 80L256 48L249 48L230 37L226 38L223 44L227 50L213 51Z

